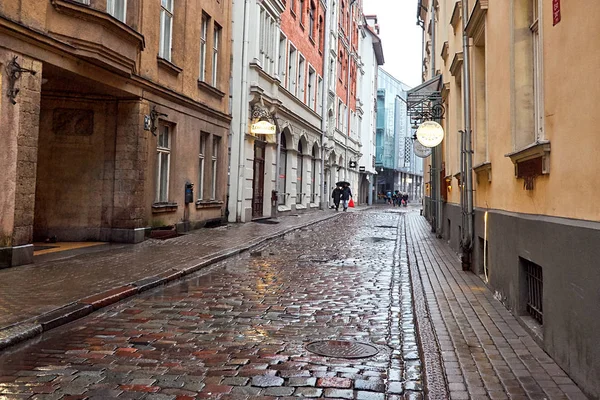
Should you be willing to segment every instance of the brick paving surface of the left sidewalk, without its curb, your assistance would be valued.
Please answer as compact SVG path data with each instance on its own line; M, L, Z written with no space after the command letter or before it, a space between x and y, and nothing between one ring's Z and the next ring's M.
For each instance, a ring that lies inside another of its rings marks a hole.
M137 280L185 270L221 253L334 215L312 212L279 218L279 224L232 224L199 229L169 240L110 246L105 251L0 270L0 330L82 298Z

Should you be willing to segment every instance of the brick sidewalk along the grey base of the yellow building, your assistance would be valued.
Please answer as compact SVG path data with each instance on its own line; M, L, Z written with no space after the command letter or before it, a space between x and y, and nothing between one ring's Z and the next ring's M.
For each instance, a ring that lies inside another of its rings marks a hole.
M438 347L424 349L425 365L441 354L451 399L587 399L423 217L407 213L405 229L413 287L427 308L419 315L417 305L419 331L435 339L423 346ZM426 368L426 377L436 375Z

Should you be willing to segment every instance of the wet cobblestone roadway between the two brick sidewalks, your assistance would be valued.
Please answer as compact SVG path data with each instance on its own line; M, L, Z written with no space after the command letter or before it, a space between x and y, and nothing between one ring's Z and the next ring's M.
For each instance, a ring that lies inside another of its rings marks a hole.
M401 220L348 213L9 348L0 397L422 398ZM316 340L378 353L319 356Z

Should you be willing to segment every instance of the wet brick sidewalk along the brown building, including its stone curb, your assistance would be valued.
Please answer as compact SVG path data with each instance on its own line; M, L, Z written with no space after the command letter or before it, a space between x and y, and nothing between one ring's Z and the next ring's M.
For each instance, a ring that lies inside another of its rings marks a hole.
M92 248L84 254L2 269L0 349L336 215L340 214L315 211L280 217L278 224L199 229L173 239Z

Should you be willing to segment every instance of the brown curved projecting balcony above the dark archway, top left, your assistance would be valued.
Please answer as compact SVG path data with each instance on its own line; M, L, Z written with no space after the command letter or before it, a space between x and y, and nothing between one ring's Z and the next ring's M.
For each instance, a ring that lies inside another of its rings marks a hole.
M144 36L101 9L69 0L51 0L48 34L68 43L72 53L124 76L138 71Z

